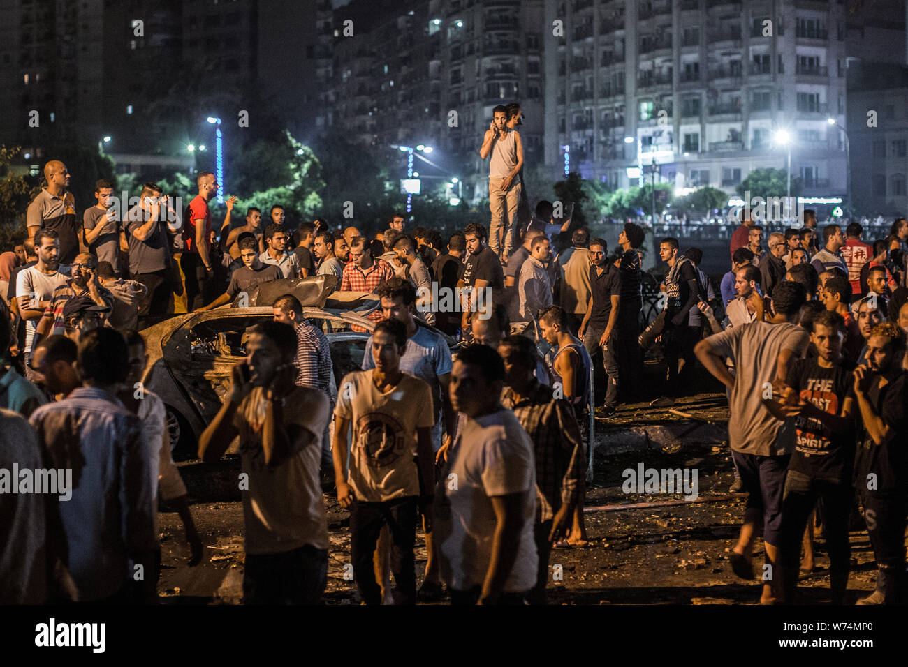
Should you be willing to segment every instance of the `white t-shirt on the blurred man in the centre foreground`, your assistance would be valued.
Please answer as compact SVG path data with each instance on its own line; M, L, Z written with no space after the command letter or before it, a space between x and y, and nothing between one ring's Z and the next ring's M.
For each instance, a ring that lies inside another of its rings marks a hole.
M538 555L533 538L536 463L527 432L510 410L468 417L450 456L439 484L434 529L445 583L466 591L485 581L498 523L491 497L522 493L524 525L504 590L528 591L536 585Z

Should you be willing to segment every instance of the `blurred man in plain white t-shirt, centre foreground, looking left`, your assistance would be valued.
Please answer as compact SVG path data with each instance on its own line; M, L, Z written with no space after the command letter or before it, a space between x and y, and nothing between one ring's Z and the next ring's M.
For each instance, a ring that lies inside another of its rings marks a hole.
M452 604L522 604L536 585L536 462L501 407L504 375L482 345L461 350L451 371L451 401L467 419L440 476L435 531Z

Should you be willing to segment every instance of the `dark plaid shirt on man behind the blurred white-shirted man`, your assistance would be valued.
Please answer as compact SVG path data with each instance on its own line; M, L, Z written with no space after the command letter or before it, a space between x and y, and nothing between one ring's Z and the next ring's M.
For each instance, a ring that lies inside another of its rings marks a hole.
M583 440L568 401L552 397L552 387L540 385L536 378L529 397L515 401L514 392L505 387L501 405L514 411L520 426L533 441L536 457L536 519L539 523L555 516L561 505L577 503L578 480L586 474Z

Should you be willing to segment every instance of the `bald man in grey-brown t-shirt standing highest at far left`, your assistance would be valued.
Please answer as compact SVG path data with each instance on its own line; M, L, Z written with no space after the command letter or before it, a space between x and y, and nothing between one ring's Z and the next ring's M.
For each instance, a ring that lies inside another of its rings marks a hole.
M35 231L53 230L60 239L60 264L73 263L80 252L87 252L82 238L82 225L75 215L75 198L68 191L69 170L59 160L44 165L47 187L42 188L28 205L25 220L28 225L28 239L35 239Z

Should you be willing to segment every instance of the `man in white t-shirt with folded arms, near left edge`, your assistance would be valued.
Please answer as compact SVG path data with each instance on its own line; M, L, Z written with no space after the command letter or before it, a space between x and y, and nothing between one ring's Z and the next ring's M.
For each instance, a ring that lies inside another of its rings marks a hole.
M19 271L15 279L15 299L19 315L25 319L25 376L28 379L34 378L29 361L38 320L44 317L54 289L65 284L69 272L69 267L59 270L60 240L55 231L35 231L35 252L38 253L35 266ZM52 313L46 317L52 317Z

